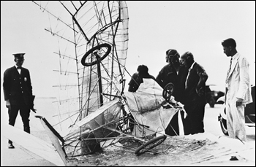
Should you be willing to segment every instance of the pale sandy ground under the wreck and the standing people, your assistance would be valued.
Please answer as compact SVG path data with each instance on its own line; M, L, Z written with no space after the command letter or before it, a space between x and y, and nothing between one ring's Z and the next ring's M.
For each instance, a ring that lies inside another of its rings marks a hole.
M50 101L49 98L37 98L37 114L47 117L47 113L54 109ZM1 124L7 123L7 109L2 104L1 99ZM43 110L45 106L48 106L47 111ZM206 117L214 117L211 119L212 123L207 121L206 133L167 138L163 144L152 150L154 152L136 156L133 150L120 148L120 144L117 143L103 149L101 153L69 159L67 166L255 166L255 127L246 128L249 141L242 144L213 130L217 114L217 109L206 106ZM49 118L48 121L52 120ZM20 116L15 127L23 127ZM34 113L31 113L31 135L50 143L39 120L34 118ZM1 135L1 166L56 166L18 144L14 145L15 149L8 149L7 139ZM238 160L231 161L231 156L236 156Z

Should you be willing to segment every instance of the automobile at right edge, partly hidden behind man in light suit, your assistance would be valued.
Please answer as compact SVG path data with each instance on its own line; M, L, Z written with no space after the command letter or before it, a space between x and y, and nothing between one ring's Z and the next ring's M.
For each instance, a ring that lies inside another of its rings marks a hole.
M222 104L222 109L220 110L218 116L220 127L222 128L222 132L225 135L228 135L225 96L220 97L218 102ZM255 127L255 85L252 85L252 103L247 104L244 108L244 118L246 126Z

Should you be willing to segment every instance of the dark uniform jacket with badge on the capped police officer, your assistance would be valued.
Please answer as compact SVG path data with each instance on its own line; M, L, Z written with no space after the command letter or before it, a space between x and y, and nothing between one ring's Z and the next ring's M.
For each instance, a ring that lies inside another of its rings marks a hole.
M4 100L10 100L11 105L32 103L32 86L29 70L21 68L20 74L16 66L4 71Z

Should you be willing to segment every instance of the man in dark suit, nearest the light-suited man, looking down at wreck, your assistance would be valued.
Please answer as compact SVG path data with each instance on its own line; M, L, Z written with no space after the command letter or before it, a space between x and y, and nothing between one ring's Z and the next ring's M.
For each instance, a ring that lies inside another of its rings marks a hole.
M187 112L187 117L183 118L184 134L203 133L208 75L203 67L194 61L192 53L181 55L181 63L188 70L184 90L184 109Z

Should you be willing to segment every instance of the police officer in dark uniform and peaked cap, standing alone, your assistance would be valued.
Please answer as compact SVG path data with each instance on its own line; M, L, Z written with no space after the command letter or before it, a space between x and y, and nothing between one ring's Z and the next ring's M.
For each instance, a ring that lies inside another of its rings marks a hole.
M4 100L9 114L9 125L15 125L18 111L20 111L24 131L30 133L29 114L30 108L33 108L34 104L29 70L21 67L24 61L24 54L13 54L15 66L4 71L3 88ZM14 148L10 140L8 147Z

